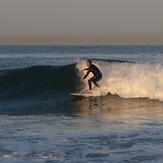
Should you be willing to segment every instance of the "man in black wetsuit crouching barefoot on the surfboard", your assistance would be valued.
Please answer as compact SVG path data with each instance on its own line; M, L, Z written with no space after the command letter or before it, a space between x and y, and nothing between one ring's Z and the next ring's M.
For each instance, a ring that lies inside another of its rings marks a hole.
M90 72L92 72L92 74L94 75L92 78L90 78L88 80L88 85L89 85L89 93L92 93L92 83L96 86L96 87L100 87L100 85L97 83L99 80L102 79L102 73L99 70L99 68L97 66L95 66L94 64L92 64L91 60L87 60L86 61L86 65L88 66L88 68L83 69L82 72L87 70L86 75L81 79L81 81L84 81L84 79L89 75Z

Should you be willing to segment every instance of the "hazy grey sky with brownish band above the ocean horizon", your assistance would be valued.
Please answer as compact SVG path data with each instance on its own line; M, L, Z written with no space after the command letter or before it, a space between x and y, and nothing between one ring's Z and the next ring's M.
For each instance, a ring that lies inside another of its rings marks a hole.
M163 0L0 0L0 44L163 44Z

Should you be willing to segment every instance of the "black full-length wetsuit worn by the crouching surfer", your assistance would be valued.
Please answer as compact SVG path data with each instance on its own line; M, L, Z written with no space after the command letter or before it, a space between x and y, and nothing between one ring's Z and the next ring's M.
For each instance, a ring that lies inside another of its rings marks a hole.
M83 79L85 79L89 75L90 72L92 72L92 74L94 75L92 78L90 78L88 80L89 89L92 90L92 83L96 87L100 87L97 82L102 79L102 73L101 73L101 71L95 65L93 65L93 64L91 64L91 66L89 68L86 68L84 70L87 70L87 73L83 77Z

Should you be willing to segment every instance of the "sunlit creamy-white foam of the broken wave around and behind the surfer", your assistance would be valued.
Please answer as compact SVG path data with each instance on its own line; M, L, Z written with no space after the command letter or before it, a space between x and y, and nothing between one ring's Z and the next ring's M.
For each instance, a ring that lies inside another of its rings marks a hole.
M95 96L117 94L123 98L149 98L163 101L163 66L161 64L135 64L128 62L97 61L103 79L100 89L94 90ZM77 69L85 67L85 60L80 60ZM82 75L82 74L81 74ZM87 81L85 81L85 89Z

